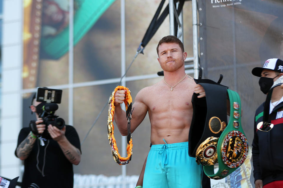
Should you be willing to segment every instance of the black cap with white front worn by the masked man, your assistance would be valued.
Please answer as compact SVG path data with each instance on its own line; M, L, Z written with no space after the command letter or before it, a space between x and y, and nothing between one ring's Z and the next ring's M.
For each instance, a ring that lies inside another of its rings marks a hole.
M281 59L273 58L265 61L263 67L255 67L251 73L255 76L261 77L261 72L264 69L274 70L279 73L283 73L283 61Z

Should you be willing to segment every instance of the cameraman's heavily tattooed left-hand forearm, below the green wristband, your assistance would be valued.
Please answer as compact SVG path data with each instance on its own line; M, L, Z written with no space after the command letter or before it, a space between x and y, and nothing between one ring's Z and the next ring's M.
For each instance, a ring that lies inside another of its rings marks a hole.
M31 133L29 133L29 135L27 135L27 137L17 147L16 154L20 160L27 159L30 152L32 151L35 141L36 141L36 138L33 138L31 136Z

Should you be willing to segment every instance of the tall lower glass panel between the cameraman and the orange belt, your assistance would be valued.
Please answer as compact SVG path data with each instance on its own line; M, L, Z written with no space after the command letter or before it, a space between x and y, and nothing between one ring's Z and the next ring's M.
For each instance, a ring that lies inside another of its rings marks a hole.
M74 89L74 127L82 142L87 132L96 120L103 106L108 103L111 92L117 84L98 85ZM82 158L74 173L104 174L118 176L121 166L116 164L111 154L107 137L108 105L98 118L86 140L82 143ZM114 136L121 154L121 134L114 124Z

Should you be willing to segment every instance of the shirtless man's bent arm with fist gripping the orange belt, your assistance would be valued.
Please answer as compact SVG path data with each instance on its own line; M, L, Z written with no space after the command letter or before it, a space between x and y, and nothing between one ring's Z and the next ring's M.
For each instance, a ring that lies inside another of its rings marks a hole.
M143 102L144 89L139 91L136 95L135 102L132 106L132 119L131 119L131 133L134 132L136 127L144 120L144 117L147 115L147 105ZM114 112L114 121L121 133L121 135L126 136L128 134L128 121L126 118L126 112L122 110L120 104L124 103L125 100L125 90L118 90L115 93L115 112Z

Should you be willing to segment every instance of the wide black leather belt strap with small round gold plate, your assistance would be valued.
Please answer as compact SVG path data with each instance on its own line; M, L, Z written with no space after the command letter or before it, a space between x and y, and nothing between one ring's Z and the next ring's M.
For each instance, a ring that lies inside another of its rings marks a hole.
M190 157L196 157L198 146L208 137L220 137L221 126L227 124L228 87L221 85L220 81L195 79L195 83L203 86L206 97L197 98L196 93L192 96L193 117L188 140Z

